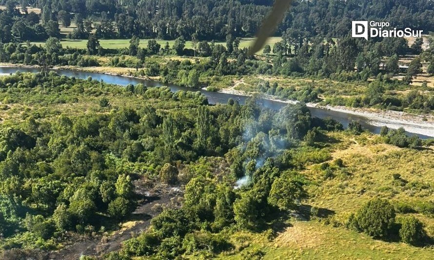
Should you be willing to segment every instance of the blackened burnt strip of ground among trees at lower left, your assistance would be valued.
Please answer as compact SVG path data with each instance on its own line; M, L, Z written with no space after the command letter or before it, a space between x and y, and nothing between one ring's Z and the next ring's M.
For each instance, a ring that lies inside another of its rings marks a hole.
M59 251L50 252L48 260L77 260L80 256L102 256L109 252L120 249L123 241L132 238L132 234L145 231L151 224L151 220L161 213L161 206L171 203L182 195L173 188L158 190L150 194L136 185L136 192L143 195L144 199L138 204L136 210L130 215L123 227L113 235L98 236L96 238L83 238L80 241L71 243Z

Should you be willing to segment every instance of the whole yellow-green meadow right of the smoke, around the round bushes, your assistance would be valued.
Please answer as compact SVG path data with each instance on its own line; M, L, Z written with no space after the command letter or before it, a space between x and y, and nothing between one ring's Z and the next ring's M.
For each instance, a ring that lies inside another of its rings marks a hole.
M304 162L302 174L311 183L306 204L327 209L330 215L309 219L294 214L289 220L275 223L274 232L237 232L231 237L234 250L220 254L217 259L430 259L433 256L432 247L375 240L346 228L343 223L349 213L373 198L388 199L395 205L432 204L433 147L402 149L384 144L379 136L368 133L355 137L335 132L330 138L335 143L324 144L318 155L328 155L330 164L342 159L345 167L335 172L335 177L325 179L320 169L322 163L309 162L313 158L295 157ZM406 184L394 180L393 174L399 174ZM396 219L408 216L422 221L426 232L434 235L432 213L398 213Z

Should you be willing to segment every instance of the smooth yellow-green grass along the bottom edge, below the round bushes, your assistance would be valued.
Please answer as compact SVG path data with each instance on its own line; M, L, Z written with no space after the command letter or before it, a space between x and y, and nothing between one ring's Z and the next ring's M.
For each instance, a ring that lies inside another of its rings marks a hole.
M289 259L432 259L434 250L398 242L384 242L345 228L317 221L294 221L277 238L240 233L232 238L241 252L223 253L219 260ZM262 254L263 258L257 258ZM431 256L431 257L430 257Z

